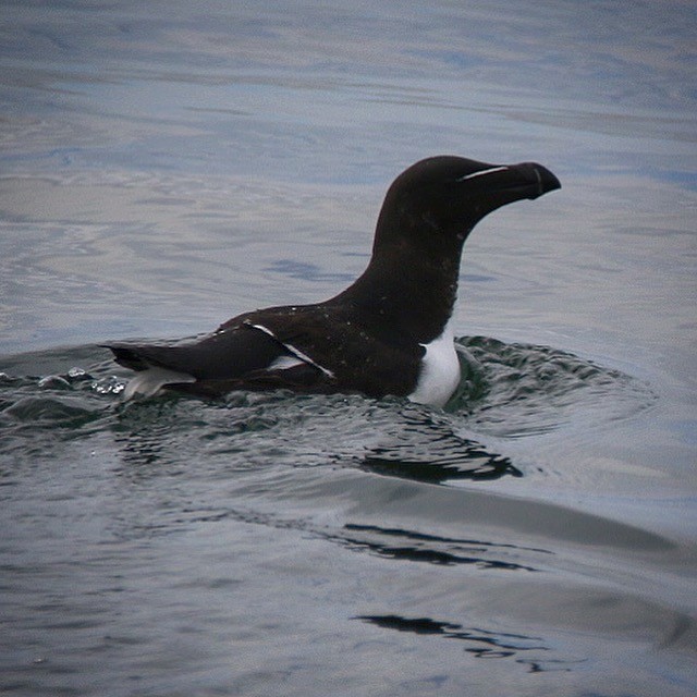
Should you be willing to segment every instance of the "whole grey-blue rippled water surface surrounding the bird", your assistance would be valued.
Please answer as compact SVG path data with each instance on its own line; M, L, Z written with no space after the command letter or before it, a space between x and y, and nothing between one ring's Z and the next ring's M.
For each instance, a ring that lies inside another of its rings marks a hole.
M692 3L4 2L0 688L693 695ZM99 342L328 297L421 157L484 221L443 411L122 404Z

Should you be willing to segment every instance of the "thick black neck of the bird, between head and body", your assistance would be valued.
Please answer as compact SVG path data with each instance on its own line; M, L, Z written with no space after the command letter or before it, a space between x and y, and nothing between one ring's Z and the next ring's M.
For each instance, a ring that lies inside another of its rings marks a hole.
M414 258L400 247L375 249L368 268L334 299L386 327L428 343L443 333L457 295L460 259Z

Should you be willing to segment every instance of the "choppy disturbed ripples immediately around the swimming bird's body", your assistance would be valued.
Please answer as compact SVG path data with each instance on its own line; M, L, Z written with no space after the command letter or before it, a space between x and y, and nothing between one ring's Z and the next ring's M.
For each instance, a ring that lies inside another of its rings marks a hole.
M108 428L132 463L206 454L235 468L269 463L359 467L430 484L521 477L496 438L628 418L650 389L549 346L458 340L463 378L447 411L358 395L237 392L218 402L178 395L123 404L127 372L94 347L25 354L0 375L0 429L14 452L47 431L62 440ZM74 363L85 359L85 368ZM60 365L73 365L56 369ZM337 428L337 424L342 426ZM46 448L50 448L48 441Z

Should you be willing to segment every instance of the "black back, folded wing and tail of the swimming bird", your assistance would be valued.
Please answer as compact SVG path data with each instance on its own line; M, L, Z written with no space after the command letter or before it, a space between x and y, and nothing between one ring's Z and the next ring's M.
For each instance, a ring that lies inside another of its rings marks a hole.
M108 347L142 374L129 394L289 388L379 398L405 395L417 381L424 348L403 339L394 328L366 326L355 308L319 304L246 313L183 344Z

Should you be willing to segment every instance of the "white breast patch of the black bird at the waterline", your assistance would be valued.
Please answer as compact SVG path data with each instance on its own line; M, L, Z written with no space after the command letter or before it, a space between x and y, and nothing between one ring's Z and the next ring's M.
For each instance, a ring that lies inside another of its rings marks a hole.
M426 354L421 358L416 389L408 399L419 404L443 406L460 384L460 360L450 322L438 339L421 346Z

